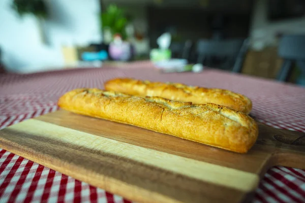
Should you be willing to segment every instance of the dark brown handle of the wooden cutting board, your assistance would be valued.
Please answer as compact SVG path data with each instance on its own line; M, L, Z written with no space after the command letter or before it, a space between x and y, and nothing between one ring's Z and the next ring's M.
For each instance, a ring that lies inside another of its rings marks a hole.
M260 136L257 144L273 146L271 166L305 169L305 133L277 129L258 123Z

